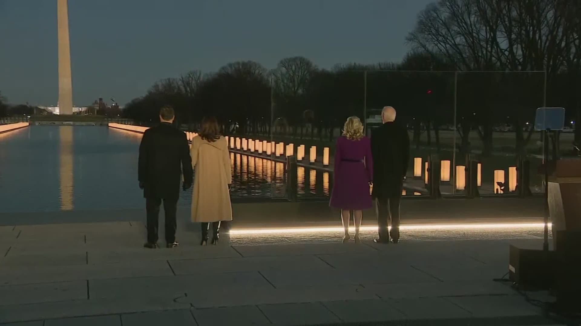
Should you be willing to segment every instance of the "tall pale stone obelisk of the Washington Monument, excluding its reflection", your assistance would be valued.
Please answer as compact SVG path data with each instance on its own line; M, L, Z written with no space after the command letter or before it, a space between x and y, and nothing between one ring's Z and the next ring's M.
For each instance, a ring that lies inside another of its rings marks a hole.
M68 0L57 1L59 28L59 114L73 114L71 50L69 44L69 4Z

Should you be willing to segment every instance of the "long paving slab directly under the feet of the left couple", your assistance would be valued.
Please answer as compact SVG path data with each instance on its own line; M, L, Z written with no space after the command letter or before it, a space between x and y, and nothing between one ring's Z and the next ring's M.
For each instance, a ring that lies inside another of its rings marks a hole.
M143 244L134 248L99 248L89 251L89 263L117 263L128 261L175 260L175 259L206 259L240 257L232 247L199 246L177 248L142 248Z

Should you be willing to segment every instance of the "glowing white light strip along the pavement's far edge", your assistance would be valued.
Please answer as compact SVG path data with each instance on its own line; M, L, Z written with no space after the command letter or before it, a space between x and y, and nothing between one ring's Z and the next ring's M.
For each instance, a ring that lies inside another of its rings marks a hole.
M525 227L544 227L544 223L496 223L496 224L425 224L425 225L402 225L400 230L443 230L443 229L465 229L465 230L486 230L486 229L518 229ZM551 223L548 223L551 227ZM376 226L361 226L361 231L377 231ZM230 234L281 234L281 233L320 233L320 232L342 232L343 227L289 227L286 229L242 229L230 230Z

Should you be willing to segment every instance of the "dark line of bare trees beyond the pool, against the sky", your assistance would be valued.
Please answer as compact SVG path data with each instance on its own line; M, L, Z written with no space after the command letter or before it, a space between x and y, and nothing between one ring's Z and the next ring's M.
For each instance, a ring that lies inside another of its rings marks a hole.
M412 50L400 63L321 69L297 56L267 70L237 61L216 73L162 79L124 112L155 121L159 107L170 104L183 123L212 114L243 133L285 126L296 134L310 126L307 131L322 137L332 136L349 115L361 117L364 108L392 105L418 146L422 132L439 146L440 131L456 121L461 150L469 150L476 133L490 153L494 128L511 125L522 153L537 107L563 106L581 121L580 3L440 0L419 13L407 37Z

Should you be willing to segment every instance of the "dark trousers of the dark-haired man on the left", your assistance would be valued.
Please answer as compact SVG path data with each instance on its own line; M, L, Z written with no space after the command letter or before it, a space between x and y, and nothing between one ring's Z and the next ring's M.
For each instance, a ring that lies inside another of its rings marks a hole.
M178 198L164 198L163 211L166 215L166 242L171 244L175 241L175 229L177 222L175 215L177 212ZM147 241L157 242L157 230L159 229L159 208L162 205L161 198L145 198L145 209L147 211Z

